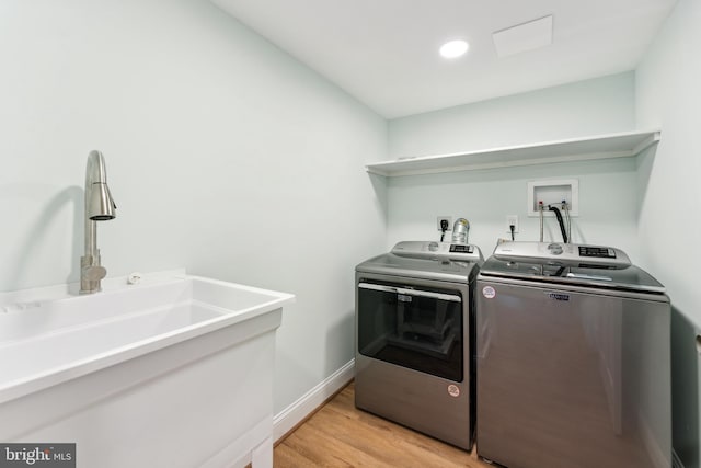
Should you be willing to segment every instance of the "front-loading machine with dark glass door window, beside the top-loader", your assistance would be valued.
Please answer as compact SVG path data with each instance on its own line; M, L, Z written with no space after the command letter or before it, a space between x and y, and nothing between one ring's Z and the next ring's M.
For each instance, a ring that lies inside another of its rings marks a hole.
M471 449L483 261L475 246L406 241L356 266L357 408Z

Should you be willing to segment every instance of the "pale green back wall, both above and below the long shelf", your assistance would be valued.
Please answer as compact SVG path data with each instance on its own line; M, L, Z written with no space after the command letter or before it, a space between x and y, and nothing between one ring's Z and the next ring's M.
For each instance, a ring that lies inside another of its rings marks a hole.
M425 156L589 137L634 128L632 72L581 81L390 121L392 157ZM506 215L518 215L518 240L538 240L527 216L528 181L577 179L575 242L613 244L637 254L634 159L587 161L415 175L388 180L388 246L438 239L436 216L466 217L470 240L487 256L506 238ZM545 239L561 239L553 219Z

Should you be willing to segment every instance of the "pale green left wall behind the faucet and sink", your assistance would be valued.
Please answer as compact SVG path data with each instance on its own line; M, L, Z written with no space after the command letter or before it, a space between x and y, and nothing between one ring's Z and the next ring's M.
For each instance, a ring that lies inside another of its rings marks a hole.
M0 62L0 290L78 279L99 149L110 276L184 266L296 294L276 411L353 358L353 267L384 244L363 170L383 118L208 1L2 0Z

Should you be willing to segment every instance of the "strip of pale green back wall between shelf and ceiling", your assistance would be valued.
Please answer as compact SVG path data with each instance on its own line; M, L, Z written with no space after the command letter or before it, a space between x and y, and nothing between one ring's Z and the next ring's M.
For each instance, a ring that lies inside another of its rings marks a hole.
M596 78L390 121L391 158L441 155L624 132L634 75Z

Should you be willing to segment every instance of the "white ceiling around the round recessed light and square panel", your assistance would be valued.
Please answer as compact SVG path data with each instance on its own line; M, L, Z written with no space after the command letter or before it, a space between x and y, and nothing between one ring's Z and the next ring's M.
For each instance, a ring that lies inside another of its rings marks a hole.
M386 118L632 70L676 0L211 0ZM492 33L553 15L552 45ZM439 46L464 38L447 60Z

